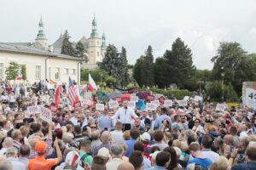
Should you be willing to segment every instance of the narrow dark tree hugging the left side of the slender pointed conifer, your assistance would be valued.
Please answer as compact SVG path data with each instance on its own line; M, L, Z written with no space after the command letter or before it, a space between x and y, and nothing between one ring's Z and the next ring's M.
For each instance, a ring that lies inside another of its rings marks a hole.
M144 55L141 55L139 59L137 59L136 64L133 66L132 69L132 77L136 80L137 84L142 87L143 83L141 80L142 75L142 68L143 68L143 61L145 59Z

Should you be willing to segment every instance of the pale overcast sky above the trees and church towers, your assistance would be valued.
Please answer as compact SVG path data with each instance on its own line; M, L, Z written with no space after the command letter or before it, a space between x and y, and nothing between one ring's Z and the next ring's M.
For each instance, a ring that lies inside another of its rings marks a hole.
M134 64L152 45L162 56L181 37L199 69L212 69L219 42L236 41L256 52L255 0L0 0L0 42L32 42L43 15L49 43L68 30L73 41L90 36L96 14L98 32L127 49Z

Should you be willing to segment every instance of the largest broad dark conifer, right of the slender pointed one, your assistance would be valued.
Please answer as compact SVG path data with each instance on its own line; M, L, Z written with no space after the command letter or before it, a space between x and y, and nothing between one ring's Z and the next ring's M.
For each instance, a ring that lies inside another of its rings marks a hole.
M181 38L172 43L172 51L166 50L166 71L163 73L169 80L168 85L176 83L179 88L190 88L189 82L195 73L191 49L185 45Z

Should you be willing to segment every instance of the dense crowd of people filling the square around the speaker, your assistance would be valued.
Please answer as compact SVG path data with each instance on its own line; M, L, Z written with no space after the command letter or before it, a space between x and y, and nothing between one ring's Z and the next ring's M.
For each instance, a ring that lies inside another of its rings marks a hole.
M256 120L251 108L217 111L211 103L74 108L62 88L60 105L45 122L27 106L55 105L43 83L1 82L0 170L253 170ZM18 88L18 89L17 89Z

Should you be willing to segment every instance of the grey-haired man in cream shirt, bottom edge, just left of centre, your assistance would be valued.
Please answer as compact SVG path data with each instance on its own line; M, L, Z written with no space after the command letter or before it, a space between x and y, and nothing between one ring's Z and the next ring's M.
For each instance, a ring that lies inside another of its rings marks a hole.
M110 149L112 160L108 161L106 164L107 170L117 170L119 164L123 162L122 156L124 153L124 148L121 144L113 144Z

